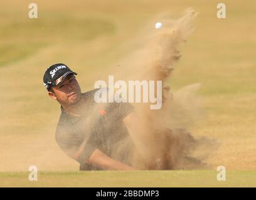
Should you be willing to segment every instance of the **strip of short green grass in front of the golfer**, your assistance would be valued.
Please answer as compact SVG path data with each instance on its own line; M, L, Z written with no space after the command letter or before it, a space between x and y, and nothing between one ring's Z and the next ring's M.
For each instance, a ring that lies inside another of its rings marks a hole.
M256 171L65 171L40 172L38 181L28 173L0 173L1 187L255 187Z

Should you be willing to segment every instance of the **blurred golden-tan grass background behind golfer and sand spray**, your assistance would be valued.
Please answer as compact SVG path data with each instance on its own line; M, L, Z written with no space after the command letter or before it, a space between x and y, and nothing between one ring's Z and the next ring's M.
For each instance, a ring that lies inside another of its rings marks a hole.
M0 171L77 170L55 143L60 106L47 96L45 69L65 63L78 72L83 92L92 89L132 51L127 42L149 19L163 11L178 18L187 8L198 12L195 32L170 86L201 83L206 119L191 132L221 144L206 160L213 169L256 169L256 1L222 1L226 19L216 17L218 1L33 2L38 19L28 17L30 1L1 1Z

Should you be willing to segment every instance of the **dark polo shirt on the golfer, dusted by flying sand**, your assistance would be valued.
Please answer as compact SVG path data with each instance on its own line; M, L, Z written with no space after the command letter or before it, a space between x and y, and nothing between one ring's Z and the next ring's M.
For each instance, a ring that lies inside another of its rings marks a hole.
M131 164L133 143L122 119L131 113L129 103L96 103L94 93L82 93L82 115L71 116L61 106L56 128L56 142L71 158L80 163L80 170L100 170L85 163L95 149L112 159Z

